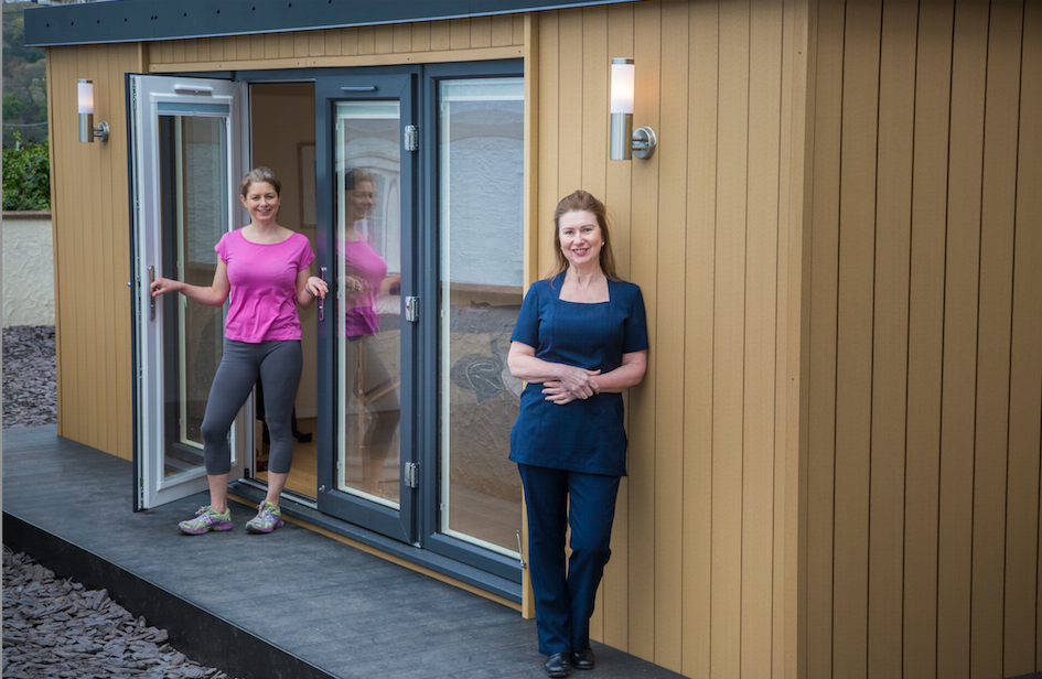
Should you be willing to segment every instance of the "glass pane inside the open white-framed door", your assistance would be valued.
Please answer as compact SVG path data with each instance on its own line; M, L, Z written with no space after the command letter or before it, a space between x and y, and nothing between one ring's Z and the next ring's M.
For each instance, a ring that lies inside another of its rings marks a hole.
M214 245L227 229L229 186L224 118L162 117L169 146L160 144L164 182L163 271L193 285L210 285L217 268ZM224 308L189 304L181 295L163 303L165 392L164 475L202 468L200 428L224 349Z

